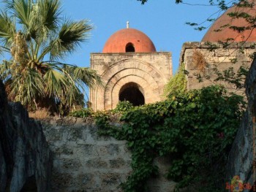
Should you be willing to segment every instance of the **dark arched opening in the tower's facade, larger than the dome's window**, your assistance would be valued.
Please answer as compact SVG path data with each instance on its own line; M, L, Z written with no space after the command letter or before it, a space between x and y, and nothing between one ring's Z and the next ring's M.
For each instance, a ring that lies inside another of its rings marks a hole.
M135 82L128 82L119 91L119 101L129 101L134 106L145 104L142 88Z

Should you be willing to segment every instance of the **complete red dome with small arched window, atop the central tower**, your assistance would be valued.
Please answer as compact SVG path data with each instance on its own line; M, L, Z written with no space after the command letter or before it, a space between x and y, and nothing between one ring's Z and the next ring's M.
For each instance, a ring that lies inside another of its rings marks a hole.
M105 43L102 53L156 52L154 43L146 34L135 28L116 31Z

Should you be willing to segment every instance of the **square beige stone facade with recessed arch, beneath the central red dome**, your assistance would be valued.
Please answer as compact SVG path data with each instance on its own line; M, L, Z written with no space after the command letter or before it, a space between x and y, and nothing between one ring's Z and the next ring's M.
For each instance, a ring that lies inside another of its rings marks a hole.
M142 93L144 103L148 104L162 100L164 85L172 75L171 54L91 53L91 69L105 83L103 88L90 90L93 110L114 109L123 93L129 97L133 91Z

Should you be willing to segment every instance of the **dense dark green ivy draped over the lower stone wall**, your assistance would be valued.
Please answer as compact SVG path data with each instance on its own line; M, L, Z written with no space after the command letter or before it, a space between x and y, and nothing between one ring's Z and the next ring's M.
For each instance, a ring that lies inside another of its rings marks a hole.
M96 115L99 134L127 140L132 151L133 172L124 191L147 191L146 181L158 173L154 159L159 156L170 157L167 177L178 183L177 191L192 185L197 191L225 190L223 170L241 120L241 96L211 86L169 97L119 110L121 127L110 123L113 112Z

